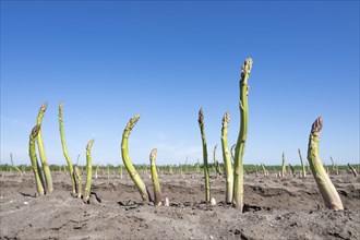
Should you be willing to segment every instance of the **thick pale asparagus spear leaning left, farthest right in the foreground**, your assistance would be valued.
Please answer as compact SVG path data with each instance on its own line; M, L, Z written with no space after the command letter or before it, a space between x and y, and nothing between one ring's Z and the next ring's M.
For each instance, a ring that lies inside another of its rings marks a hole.
M325 202L325 206L331 209L344 209L340 196L319 157L319 139L322 127L323 120L319 117L311 128L308 146L308 160L320 193Z

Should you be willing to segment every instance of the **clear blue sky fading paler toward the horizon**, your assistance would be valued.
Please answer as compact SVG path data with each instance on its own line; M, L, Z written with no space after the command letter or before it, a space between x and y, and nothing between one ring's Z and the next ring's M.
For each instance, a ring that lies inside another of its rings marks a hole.
M281 153L305 157L312 122L322 116L320 154L329 164L359 163L358 1L1 1L1 163L12 152L29 164L28 135L48 101L43 136L49 164L62 156L58 105L68 152L85 164L202 161L197 111L204 109L209 160L226 111L229 143L239 132L239 76L249 80L245 164L277 165Z

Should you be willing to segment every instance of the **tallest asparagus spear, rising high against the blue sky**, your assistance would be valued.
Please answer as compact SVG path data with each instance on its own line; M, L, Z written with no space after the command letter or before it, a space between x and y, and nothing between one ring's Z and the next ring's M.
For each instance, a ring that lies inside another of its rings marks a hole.
M245 151L245 142L248 134L249 121L249 85L248 80L252 68L252 59L248 58L241 68L240 79L240 131L237 146L235 149L235 166L233 166L233 201L232 206L242 213L243 207L243 161L242 157Z

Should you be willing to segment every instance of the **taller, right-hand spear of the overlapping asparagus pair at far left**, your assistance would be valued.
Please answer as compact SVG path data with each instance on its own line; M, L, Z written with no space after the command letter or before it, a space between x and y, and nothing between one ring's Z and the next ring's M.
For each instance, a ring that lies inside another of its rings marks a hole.
M37 124L40 125L40 127L41 127L43 117L44 117L44 113L45 113L47 107L48 107L48 103L45 103L45 104L41 105L41 107L39 109L39 113L37 116ZM50 172L49 165L46 160L41 130L37 134L36 140L37 140L37 147L39 149L40 160L41 160L41 165L43 165L43 171L44 171L45 181L46 181L46 194L51 194L51 192L53 190L52 179L51 179L51 172Z

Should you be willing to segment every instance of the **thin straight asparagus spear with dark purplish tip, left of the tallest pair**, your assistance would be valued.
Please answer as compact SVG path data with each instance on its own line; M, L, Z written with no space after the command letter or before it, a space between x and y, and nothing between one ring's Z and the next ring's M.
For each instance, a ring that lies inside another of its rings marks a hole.
M207 145L206 145L206 136L204 129L204 112L203 108L199 111L199 127L201 132L201 139L203 143L203 160L204 160L204 178L205 178L205 202L211 201L211 185L209 185L209 172L207 165Z

